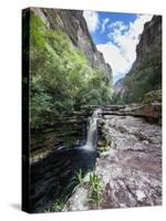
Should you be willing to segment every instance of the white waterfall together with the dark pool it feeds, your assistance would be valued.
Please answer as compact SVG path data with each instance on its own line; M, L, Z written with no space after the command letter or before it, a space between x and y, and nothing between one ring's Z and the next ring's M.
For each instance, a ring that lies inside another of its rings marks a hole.
M101 109L95 109L87 128L86 144L51 152L31 165L31 210L42 212L55 199L62 199L75 187L75 175L93 170L97 156L97 119Z

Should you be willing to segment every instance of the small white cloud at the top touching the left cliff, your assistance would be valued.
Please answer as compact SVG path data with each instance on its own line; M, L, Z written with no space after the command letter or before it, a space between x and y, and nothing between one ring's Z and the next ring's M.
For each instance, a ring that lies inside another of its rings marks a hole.
M95 32L100 28L100 18L95 11L84 11L83 15L86 20L89 31Z

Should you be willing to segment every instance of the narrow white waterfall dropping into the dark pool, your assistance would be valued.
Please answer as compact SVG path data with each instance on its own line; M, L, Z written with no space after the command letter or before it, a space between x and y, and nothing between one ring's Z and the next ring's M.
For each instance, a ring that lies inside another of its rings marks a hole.
M98 113L101 113L101 109L95 109L90 119L86 144L83 147L84 149L93 150L96 147Z

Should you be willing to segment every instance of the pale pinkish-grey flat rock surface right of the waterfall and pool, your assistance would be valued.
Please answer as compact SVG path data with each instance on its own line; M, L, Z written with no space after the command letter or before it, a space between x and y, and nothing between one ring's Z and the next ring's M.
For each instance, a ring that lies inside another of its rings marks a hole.
M65 210L162 204L162 127L117 115L104 115L100 125L110 141L95 168L104 183L102 203L97 208L89 203L85 186L75 190Z

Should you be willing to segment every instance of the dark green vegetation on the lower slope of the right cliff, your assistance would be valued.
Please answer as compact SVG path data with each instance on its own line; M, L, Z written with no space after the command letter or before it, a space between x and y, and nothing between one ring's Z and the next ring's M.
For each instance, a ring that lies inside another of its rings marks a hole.
M128 73L124 78L124 86L127 88L123 96L125 103L142 102L146 93L162 88L162 44L159 38L157 42L151 46L151 51L143 54L139 67Z

